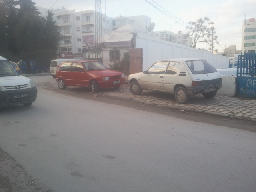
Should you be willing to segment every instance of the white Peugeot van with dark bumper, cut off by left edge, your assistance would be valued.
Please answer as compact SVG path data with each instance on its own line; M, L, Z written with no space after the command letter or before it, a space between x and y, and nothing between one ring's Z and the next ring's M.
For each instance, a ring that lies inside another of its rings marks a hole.
M21 76L12 64L0 56L0 107L23 104L31 106L37 97L35 83Z

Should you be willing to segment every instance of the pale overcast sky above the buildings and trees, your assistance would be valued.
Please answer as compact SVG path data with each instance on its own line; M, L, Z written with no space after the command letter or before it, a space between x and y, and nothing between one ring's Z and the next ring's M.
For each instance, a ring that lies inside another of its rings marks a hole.
M67 8L75 10L95 10L94 0L32 0L35 6L43 8ZM215 48L222 52L230 45L241 50L242 21L256 18L256 0L101 0L102 13L109 17L146 15L155 23L153 31L180 30L186 33L186 23L198 18L208 17L214 22L219 45ZM153 5L153 6L152 6ZM163 14L166 12L168 15ZM175 23L178 21L178 23ZM164 25L169 24L168 25ZM175 23L175 24L174 24ZM196 48L208 49L206 44Z

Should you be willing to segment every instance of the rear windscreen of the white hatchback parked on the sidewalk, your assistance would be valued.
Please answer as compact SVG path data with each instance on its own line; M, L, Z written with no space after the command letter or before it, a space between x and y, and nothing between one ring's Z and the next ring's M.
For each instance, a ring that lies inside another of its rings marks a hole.
M211 66L206 60L186 61L186 64L194 75L217 72L217 70L213 66Z

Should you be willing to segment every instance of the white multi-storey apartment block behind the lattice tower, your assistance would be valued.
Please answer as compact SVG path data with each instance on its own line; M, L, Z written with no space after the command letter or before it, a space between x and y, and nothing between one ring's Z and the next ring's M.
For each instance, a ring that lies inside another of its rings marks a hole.
M47 16L47 9L36 7L42 13L42 16ZM66 8L49 10L54 13L53 19L56 20L56 25L60 27L60 34L64 39L59 42L59 53L80 54L83 58L93 58L90 47L92 44L86 44L86 36L92 37L95 40L95 11L85 10L75 12ZM151 18L147 16L132 16L110 18L102 14L102 36L116 30L126 24L132 24L140 30L147 31L151 24ZM103 40L104 41L104 40Z

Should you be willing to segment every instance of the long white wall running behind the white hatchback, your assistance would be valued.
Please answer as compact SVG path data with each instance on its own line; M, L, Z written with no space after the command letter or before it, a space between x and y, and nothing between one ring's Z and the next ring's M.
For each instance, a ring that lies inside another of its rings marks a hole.
M170 58L203 58L216 69L229 66L229 58L201 51L182 44L158 40L144 34L137 34L136 48L143 48L143 70L148 69L156 60Z

